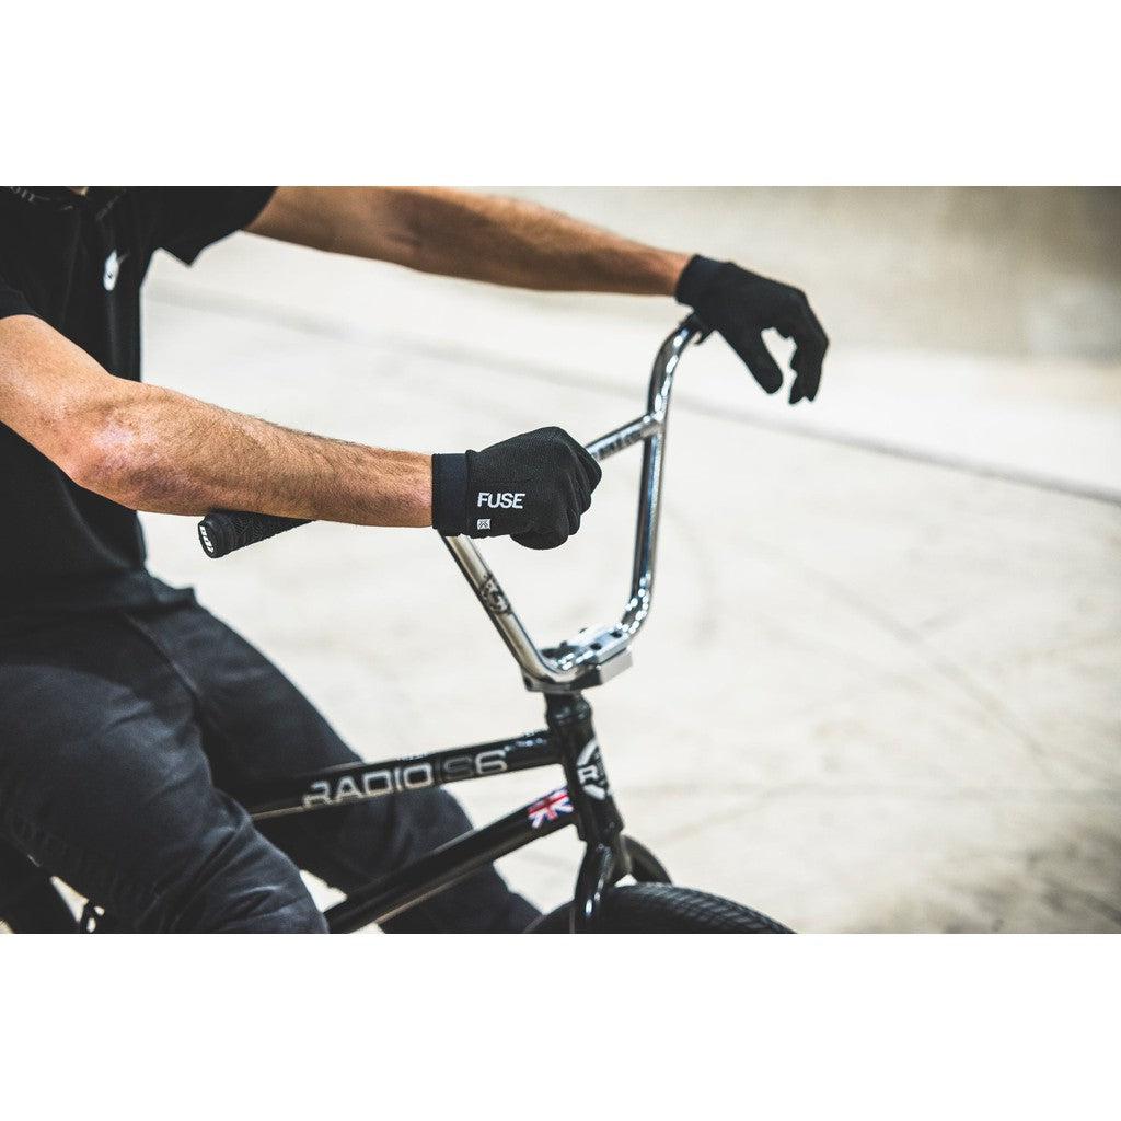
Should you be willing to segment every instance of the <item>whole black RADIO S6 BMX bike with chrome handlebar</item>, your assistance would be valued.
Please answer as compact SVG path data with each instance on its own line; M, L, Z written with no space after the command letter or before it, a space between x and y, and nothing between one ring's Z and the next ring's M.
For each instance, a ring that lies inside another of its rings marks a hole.
M328 908L324 915L331 933L348 934L391 919L484 865L569 826L584 845L573 899L537 919L529 928L532 933L788 933L787 927L759 911L670 883L657 858L624 832L592 723L592 706L584 696L630 667L631 647L649 617L674 374L683 352L706 335L707 328L696 315L678 324L655 359L646 411L586 445L595 460L603 461L642 444L630 597L618 621L585 628L557 646L538 647L474 541L443 538L518 664L526 688L544 696L544 729L429 754L328 768L238 791L250 816L265 821L288 814L330 813L368 798L408 797L415 790L539 767L563 769L565 785ZM210 556L221 557L304 524L219 511L198 524L198 537ZM0 924L17 932L117 929L112 916L92 902L75 920L45 870L2 851Z

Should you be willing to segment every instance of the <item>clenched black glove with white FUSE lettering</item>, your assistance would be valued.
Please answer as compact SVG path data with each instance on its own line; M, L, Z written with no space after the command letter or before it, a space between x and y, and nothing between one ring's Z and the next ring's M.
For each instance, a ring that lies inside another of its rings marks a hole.
M447 536L503 537L555 549L580 529L600 465L563 428L538 428L481 452L432 457L432 524Z

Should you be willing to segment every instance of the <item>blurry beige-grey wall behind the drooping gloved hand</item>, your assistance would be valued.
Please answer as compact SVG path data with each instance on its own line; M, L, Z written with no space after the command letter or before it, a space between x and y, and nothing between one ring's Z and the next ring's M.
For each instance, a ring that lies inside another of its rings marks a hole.
M856 343L1121 353L1121 189L525 188L637 237L797 279Z

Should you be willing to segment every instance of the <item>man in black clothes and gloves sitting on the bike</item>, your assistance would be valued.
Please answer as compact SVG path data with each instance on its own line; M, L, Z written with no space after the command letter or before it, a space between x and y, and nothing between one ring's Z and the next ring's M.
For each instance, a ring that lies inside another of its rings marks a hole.
M464 833L444 790L254 825L226 791L356 760L189 589L145 567L137 510L232 509L434 526L554 548L600 480L567 433L483 451L386 451L140 382L152 254L186 263L248 230L420 271L676 296L768 392L761 334L794 340L790 402L827 346L798 290L540 207L421 188L0 189L0 867L30 860L135 930L322 932L299 876L348 891ZM2 888L2 884L0 884ZM491 868L386 924L521 930Z

